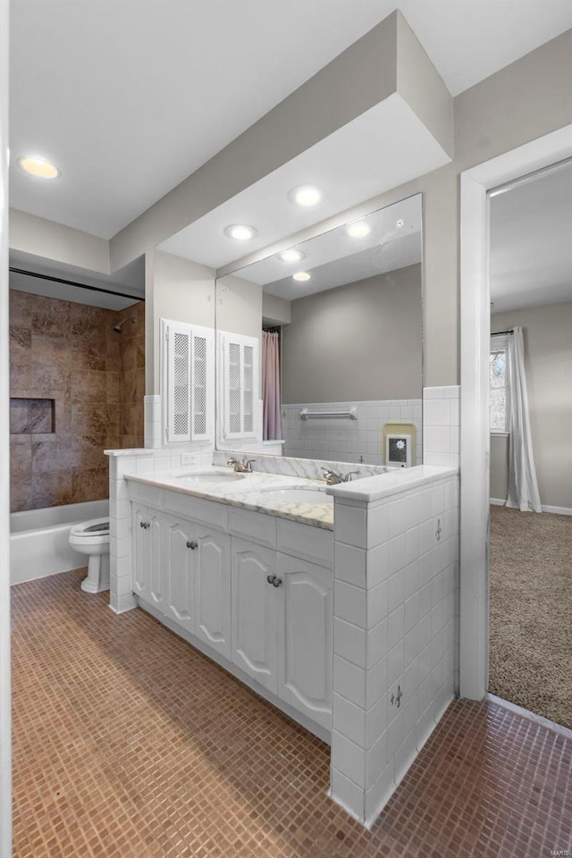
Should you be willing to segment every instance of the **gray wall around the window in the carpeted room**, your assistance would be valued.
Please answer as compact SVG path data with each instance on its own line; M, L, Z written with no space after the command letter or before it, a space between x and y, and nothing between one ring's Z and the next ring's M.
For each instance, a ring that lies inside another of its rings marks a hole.
M491 330L522 325L534 461L544 506L572 508L572 301L495 313ZM508 439L491 436L491 497L507 496Z

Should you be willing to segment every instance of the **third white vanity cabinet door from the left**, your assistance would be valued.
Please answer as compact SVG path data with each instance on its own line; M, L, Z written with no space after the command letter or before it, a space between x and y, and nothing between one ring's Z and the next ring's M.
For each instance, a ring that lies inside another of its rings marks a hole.
M198 543L188 523L169 522L165 614L187 631L195 631Z

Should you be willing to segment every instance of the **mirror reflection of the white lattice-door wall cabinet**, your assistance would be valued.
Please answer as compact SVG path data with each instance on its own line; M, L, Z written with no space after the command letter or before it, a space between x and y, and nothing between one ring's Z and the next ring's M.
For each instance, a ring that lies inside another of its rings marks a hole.
M223 440L257 437L258 340L219 332L223 366Z

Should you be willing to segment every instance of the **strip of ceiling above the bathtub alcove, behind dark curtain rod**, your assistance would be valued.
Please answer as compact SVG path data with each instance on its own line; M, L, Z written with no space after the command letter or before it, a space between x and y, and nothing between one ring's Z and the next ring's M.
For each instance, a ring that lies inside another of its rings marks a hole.
M32 295L44 295L47 298L88 304L91 307L106 307L108 310L122 310L136 301L145 299L144 257L134 259L129 265L125 265L113 274L102 274L87 271L75 265L55 262L54 259L24 253L21 250L11 250L10 267L95 287L94 290L81 289L80 286L72 286L69 283L54 282L11 271L10 289L31 292ZM131 295L132 298L124 298L110 292L122 292Z

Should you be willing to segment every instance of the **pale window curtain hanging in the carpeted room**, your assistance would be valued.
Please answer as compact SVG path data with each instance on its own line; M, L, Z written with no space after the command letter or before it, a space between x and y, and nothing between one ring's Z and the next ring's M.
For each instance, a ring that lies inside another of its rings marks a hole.
M507 343L509 387L509 493L507 506L521 512L542 512L534 467L533 438L528 416L525 339L521 327Z

